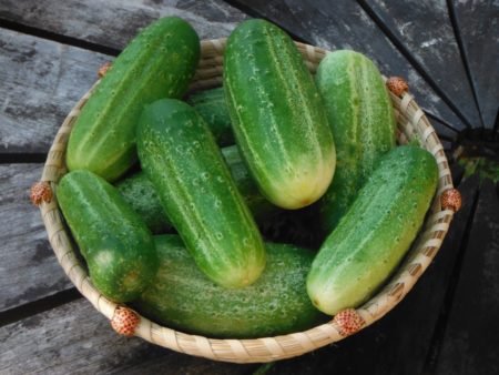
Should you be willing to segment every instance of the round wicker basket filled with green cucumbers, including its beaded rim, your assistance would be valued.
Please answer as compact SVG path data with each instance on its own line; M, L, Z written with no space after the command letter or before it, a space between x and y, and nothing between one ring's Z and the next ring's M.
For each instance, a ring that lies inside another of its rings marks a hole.
M120 334L237 363L314 351L396 306L459 209L407 84L361 53L163 18L106 68L31 199Z

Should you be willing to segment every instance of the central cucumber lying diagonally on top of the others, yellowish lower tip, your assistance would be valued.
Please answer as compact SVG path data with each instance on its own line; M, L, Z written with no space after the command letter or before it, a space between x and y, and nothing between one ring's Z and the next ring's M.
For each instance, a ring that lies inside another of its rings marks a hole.
M147 105L138 128L143 171L200 268L226 287L252 284L265 247L213 134L189 104Z

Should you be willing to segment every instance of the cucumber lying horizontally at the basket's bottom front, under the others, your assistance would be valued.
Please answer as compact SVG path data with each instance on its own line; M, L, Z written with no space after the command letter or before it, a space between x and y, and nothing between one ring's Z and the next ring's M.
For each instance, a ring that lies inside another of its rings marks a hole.
M175 235L154 237L160 271L133 307L169 327L212 337L265 337L307 330L325 317L310 303L305 280L314 253L266 244L262 276L227 290L196 267Z

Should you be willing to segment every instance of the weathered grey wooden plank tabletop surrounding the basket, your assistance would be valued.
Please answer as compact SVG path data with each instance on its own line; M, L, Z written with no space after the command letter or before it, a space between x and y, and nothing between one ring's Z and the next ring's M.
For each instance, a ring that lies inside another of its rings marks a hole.
M223 364L118 336L63 274L29 188L99 67L172 14L203 39L266 18L408 79L464 206L436 261L380 322L294 359ZM498 374L498 19L492 0L0 0L0 373Z

